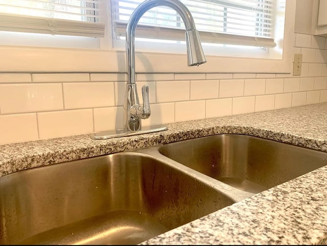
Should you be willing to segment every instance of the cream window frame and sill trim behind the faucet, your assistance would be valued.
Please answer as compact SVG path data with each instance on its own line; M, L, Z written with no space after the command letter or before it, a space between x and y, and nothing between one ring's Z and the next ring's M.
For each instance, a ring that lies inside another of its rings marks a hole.
M103 1L105 37L101 49L55 48L0 45L0 72L126 72L125 51L114 50L110 1ZM206 55L207 63L189 67L185 54L141 52L135 49L135 68L138 73L291 73L294 54L295 0L286 1L282 59L240 58ZM110 28L108 28L110 27ZM51 59L49 59L51 57ZM64 58L64 59L63 59Z

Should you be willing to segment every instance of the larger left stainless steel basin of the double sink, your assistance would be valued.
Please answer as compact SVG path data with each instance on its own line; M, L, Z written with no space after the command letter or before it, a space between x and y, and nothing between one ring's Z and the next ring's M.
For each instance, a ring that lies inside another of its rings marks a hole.
M137 244L235 203L140 153L18 171L0 193L1 244Z

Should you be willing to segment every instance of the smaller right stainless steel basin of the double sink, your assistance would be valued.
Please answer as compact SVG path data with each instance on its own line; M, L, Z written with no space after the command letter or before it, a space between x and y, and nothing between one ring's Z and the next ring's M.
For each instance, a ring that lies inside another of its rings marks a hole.
M238 134L168 143L159 152L204 175L253 193L327 165L325 152Z

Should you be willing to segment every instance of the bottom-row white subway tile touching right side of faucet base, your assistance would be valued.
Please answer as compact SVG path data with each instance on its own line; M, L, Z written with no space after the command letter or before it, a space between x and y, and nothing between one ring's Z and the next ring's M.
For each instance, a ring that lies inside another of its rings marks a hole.
M175 103L151 104L151 115L142 126L155 126L175 121Z

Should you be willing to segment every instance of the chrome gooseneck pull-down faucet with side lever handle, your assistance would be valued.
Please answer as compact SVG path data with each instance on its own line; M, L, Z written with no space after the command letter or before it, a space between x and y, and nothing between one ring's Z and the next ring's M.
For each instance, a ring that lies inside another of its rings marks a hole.
M188 65L200 65L205 63L205 56L202 50L199 33L195 28L195 23L191 12L178 0L147 0L140 4L132 13L126 28L126 66L127 83L124 100L124 130L140 131L141 119L150 117L149 87L144 85L142 88L143 105L139 104L137 89L135 84L135 28L137 22L149 9L158 6L167 6L174 9L184 21L185 39L188 54Z

